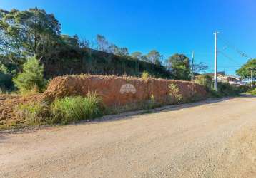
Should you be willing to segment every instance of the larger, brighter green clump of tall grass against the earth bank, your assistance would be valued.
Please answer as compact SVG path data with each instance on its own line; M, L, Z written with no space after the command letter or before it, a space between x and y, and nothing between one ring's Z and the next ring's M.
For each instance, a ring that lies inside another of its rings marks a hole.
M67 124L102 116L104 106L95 93L89 93L85 98L76 96L55 100L50 110L52 122Z

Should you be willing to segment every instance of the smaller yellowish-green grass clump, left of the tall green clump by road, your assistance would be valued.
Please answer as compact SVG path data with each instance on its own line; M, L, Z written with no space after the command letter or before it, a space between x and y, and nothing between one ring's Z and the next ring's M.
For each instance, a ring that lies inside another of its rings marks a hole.
M16 109L16 114L26 122L41 123L49 117L49 105L46 103L20 104Z

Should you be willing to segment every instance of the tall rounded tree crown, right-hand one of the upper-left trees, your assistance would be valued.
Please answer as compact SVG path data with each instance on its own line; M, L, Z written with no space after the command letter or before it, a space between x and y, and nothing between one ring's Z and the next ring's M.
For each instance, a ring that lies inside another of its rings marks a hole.
M44 9L29 9L18 11L15 20L20 24L21 31L26 37L24 46L32 54L47 51L60 34L61 25L53 14L47 14Z

